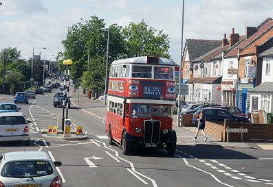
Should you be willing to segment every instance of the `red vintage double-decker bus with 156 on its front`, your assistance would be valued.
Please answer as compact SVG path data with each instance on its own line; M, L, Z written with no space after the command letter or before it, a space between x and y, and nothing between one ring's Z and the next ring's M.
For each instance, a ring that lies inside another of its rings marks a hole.
M174 155L172 129L175 104L175 62L140 56L111 64L107 94L106 132L125 155L133 147L165 148Z

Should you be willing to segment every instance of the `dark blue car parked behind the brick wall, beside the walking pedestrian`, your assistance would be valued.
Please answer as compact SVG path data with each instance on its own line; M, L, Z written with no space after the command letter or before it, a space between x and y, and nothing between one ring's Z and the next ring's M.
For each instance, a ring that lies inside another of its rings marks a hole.
M228 112L228 110L222 108L204 108L204 113L206 115L206 120L214 123L223 123L225 119L230 119L230 121L235 123L250 123L250 119L243 116L236 116ZM192 123L197 125L197 120L199 119L199 114L201 110L197 110L193 114Z

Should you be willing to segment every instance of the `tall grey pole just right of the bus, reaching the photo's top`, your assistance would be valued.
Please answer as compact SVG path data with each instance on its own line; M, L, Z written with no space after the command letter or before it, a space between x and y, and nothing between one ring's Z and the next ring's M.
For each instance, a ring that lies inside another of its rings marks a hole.
M179 68L179 91L178 91L178 110L177 110L177 127L181 124L181 89L182 89L182 68L183 68L183 30L184 30L184 0L183 0L183 10L182 10L182 31L181 31L181 55L180 55L180 68Z

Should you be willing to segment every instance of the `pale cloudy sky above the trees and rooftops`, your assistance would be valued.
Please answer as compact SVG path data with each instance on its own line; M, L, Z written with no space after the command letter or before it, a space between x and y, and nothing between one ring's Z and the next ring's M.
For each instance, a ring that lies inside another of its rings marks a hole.
M178 64L182 41L182 0L0 0L0 49L17 47L25 59L41 51L46 60L64 51L67 28L80 18L103 18L127 26L142 19L170 38L171 58ZM221 40L231 28L245 27L273 17L272 0L185 0L185 38ZM41 49L46 47L47 49ZM111 46L110 46L111 47Z

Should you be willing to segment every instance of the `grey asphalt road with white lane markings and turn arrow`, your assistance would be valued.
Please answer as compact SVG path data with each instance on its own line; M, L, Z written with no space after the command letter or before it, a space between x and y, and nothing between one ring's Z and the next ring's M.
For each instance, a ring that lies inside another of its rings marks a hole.
M40 150L63 162L59 171L63 186L139 187L139 186L273 186L273 151L256 149L223 149L209 145L178 145L175 157L164 150L142 149L134 155L123 155L120 148L109 146L105 123L69 109L74 126L81 125L88 140L55 140L41 135L41 129L56 124L62 108L52 105L53 94L19 104L32 120L30 147L19 142L1 143L0 153ZM0 102L12 101L1 95Z

